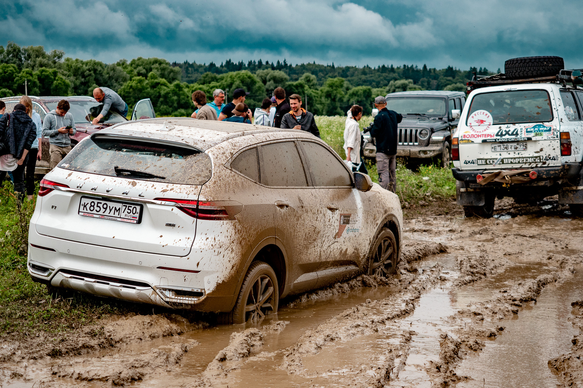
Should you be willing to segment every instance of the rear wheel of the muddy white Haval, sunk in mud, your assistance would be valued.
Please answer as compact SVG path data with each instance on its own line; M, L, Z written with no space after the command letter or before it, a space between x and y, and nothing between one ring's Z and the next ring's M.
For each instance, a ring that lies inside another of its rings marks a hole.
M278 312L278 278L271 266L256 261L247 270L231 312L219 315L219 323L245 323Z

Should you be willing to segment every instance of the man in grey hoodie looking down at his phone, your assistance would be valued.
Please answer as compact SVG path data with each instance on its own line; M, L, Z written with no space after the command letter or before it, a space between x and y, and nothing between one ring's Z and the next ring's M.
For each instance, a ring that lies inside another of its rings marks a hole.
M44 118L43 137L49 137L51 169L55 168L71 152L71 138L69 136L74 135L77 129L69 109L71 109L69 101L62 99L57 104L57 109L48 112Z

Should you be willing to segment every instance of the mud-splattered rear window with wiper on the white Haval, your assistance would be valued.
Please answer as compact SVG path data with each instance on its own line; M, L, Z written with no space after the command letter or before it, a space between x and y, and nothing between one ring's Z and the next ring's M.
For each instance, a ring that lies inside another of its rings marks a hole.
M79 143L59 167L164 183L203 184L212 175L209 155L149 141L96 137Z

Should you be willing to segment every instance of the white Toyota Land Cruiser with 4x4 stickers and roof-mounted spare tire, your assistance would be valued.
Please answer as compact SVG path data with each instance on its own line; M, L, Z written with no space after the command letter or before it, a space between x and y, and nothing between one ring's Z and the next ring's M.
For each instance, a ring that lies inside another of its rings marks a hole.
M505 74L468 82L452 138L456 199L490 217L497 197L559 203L583 215L583 84L556 56L515 58Z

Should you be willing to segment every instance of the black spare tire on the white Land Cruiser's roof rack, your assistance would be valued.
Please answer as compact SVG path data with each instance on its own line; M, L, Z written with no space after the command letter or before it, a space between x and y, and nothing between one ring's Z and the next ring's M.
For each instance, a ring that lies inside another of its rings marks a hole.
M504 73L509 79L548 77L565 68L560 56L524 56L504 62Z

